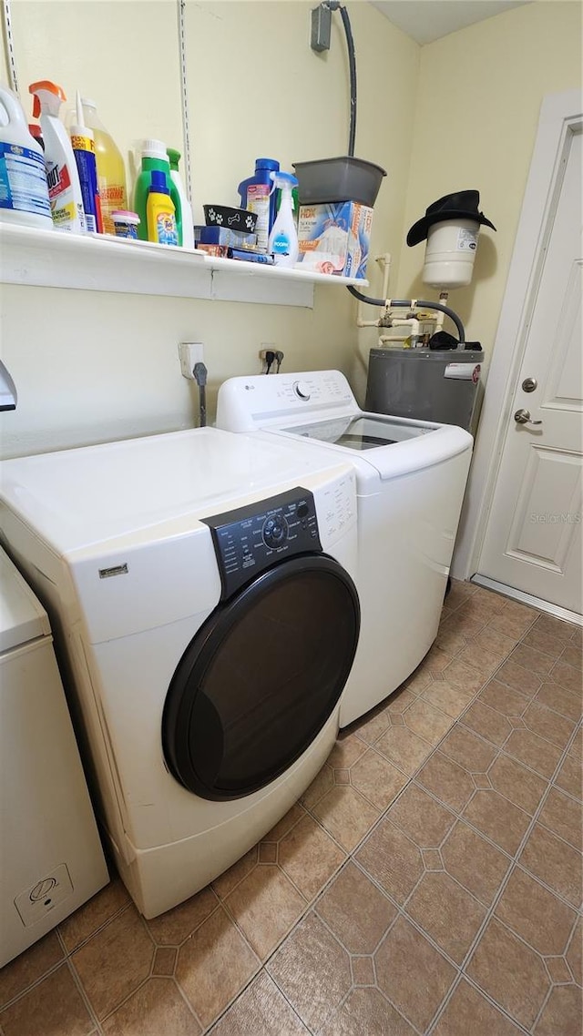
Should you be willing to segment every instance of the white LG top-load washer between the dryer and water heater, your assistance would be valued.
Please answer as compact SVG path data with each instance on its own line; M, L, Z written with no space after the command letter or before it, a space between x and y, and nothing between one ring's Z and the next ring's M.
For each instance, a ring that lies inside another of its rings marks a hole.
M339 371L229 378L217 426L303 439L357 476L362 625L340 709L346 726L391 694L434 642L473 439L450 425L366 413Z

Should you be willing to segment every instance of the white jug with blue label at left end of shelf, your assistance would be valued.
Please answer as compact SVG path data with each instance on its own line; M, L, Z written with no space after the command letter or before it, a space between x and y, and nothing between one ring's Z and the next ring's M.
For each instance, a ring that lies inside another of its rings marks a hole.
M45 153L16 93L0 86L0 222L52 230Z

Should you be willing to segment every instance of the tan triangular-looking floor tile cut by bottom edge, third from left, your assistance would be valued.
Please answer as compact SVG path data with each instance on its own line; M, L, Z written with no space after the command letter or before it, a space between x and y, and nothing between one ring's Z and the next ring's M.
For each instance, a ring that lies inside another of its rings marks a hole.
M259 1033L261 1036L309 1036L303 1021L266 972L253 979L211 1030L212 1036L259 1036Z

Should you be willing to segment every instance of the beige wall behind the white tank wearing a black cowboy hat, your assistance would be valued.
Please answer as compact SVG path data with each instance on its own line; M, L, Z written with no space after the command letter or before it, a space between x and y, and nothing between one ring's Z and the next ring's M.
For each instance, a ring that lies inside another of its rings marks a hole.
M534 2L421 50L407 229L427 205L477 189L497 232L480 230L472 284L449 305L492 353L545 94L581 86L579 0ZM398 285L426 297L424 244L404 248ZM431 290L431 289L429 289ZM432 297L435 297L433 295Z

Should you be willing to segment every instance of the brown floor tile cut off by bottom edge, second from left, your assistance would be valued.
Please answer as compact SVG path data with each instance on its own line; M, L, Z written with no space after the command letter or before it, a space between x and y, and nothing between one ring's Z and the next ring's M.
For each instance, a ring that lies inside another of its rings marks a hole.
M176 984L150 978L104 1023L107 1036L198 1036L202 1032Z

